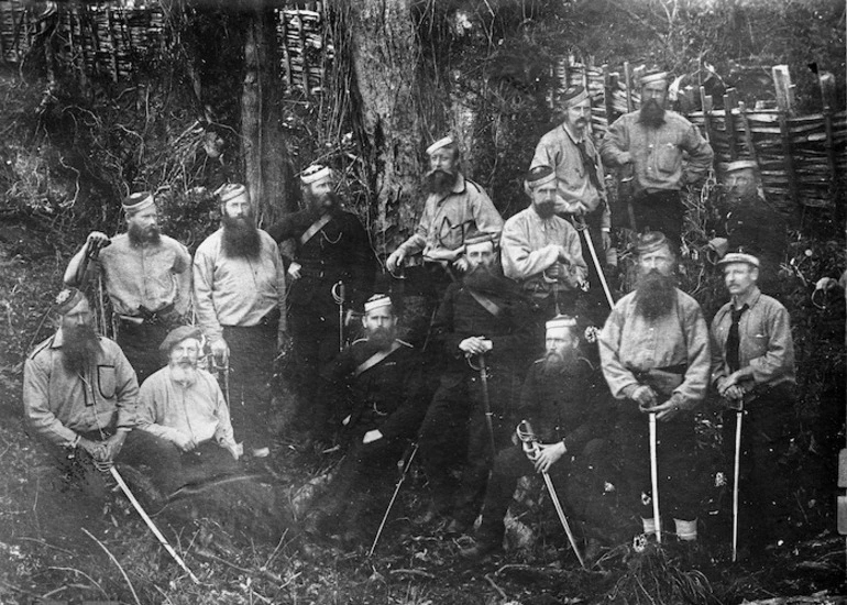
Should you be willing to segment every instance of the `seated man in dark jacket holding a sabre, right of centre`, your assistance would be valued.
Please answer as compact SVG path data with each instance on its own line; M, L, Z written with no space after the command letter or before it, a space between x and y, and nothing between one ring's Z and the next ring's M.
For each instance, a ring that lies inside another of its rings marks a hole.
M538 431L538 458L531 462L520 444L501 450L488 480L476 544L464 549L463 557L483 557L502 548L504 517L518 479L532 472L548 473L559 493L568 492L569 512L593 526L593 537L602 536L597 529L605 525L603 509L590 505L591 495L585 491L568 488L575 461L586 462L580 468L596 472L594 459L606 444L614 413L603 376L579 356L578 334L576 320L571 317L558 316L547 322L547 353L530 369L518 407L518 413ZM600 481L598 495L603 485ZM562 503L565 504L564 498Z

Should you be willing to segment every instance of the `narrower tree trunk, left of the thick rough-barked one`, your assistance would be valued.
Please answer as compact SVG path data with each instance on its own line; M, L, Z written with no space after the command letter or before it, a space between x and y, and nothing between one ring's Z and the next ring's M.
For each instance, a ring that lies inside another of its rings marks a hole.
M258 7L248 22L244 82L241 94L244 180L260 224L296 210L288 150L282 130L279 75L274 11Z

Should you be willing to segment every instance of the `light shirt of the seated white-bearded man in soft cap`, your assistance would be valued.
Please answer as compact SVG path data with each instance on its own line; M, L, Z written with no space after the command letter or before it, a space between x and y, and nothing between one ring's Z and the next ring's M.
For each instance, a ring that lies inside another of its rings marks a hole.
M144 381L139 392L139 428L168 441L182 435L197 444L211 439L221 447L235 444L218 381L200 369L191 384L174 381L169 365Z

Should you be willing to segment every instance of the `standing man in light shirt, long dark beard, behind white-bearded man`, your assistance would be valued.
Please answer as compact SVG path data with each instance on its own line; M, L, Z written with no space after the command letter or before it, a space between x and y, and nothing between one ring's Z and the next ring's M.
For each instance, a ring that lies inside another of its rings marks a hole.
M212 356L231 372L235 432L262 457L270 453L274 358L286 334L285 270L276 242L255 226L246 188L227 184L216 196L221 228L195 254L195 309Z

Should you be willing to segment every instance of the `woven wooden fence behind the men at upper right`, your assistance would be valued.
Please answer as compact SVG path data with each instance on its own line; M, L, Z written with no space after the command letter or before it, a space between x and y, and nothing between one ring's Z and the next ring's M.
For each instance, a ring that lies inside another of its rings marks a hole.
M559 61L554 69L558 88L581 84L588 89L595 136L603 136L622 113L639 107L640 69L631 69L629 64L610 72L608 65L594 66L591 61L582 63L571 56ZM799 205L833 208L844 195L847 175L847 111L836 108L835 77L820 74L823 110L800 116L788 66L777 65L771 73L776 103L757 101L750 108L728 88L723 109L714 109L715 100L703 87L696 90L689 86L679 91L680 97L686 97L680 98L680 105L702 108L684 114L708 139L718 168L735 160L754 160L765 194L776 206L787 211ZM693 99L694 95L698 99Z

